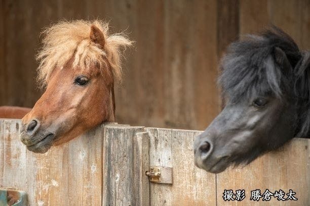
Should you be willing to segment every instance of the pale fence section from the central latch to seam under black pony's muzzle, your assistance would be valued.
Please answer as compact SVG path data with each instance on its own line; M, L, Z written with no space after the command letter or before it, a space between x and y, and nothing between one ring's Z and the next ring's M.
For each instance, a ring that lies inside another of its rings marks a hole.
M192 144L200 133L145 128L150 135L149 164L172 167L173 184L150 183L150 205L215 205L215 175L193 163Z

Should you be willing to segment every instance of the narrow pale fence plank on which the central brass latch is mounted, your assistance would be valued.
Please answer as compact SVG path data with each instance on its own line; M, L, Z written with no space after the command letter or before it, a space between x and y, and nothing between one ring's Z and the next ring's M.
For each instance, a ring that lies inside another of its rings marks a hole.
M172 167L171 129L145 128L149 133L149 166ZM150 182L150 205L172 205L173 185Z

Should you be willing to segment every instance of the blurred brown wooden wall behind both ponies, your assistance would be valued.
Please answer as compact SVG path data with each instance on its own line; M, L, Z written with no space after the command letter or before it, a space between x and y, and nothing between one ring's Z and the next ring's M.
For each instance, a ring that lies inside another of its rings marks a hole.
M124 31L124 81L115 87L117 121L204 130L219 113L218 62L229 42L269 23L310 49L309 0L3 0L0 105L32 107L43 27L62 19L104 19ZM51 99L52 100L52 99Z

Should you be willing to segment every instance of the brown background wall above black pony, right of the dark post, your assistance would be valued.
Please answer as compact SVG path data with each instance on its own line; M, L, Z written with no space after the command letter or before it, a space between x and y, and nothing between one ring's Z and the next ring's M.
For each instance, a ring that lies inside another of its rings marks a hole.
M301 49L310 48L308 0L240 0L240 33L255 33L274 24L287 32Z

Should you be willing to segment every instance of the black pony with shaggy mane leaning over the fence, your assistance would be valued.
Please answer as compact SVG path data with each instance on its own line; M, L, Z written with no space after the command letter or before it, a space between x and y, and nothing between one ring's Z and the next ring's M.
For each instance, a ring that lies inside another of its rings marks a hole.
M219 173L293 137L308 137L309 56L277 27L231 43L219 77L226 106L196 137L196 165Z

